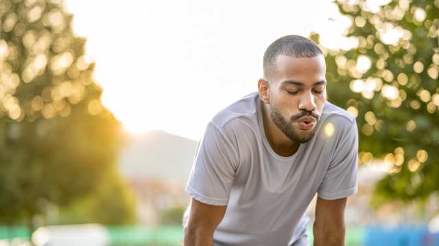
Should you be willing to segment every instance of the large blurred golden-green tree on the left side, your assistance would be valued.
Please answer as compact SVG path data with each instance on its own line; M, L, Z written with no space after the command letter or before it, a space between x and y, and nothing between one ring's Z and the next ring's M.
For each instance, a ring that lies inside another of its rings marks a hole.
M32 225L115 169L121 126L61 1L1 0L0 18L0 222Z

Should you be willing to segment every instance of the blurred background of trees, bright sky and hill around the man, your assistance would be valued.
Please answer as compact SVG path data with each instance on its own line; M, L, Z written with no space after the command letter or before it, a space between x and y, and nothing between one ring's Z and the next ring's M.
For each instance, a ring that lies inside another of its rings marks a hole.
M346 245L439 245L439 0L0 0L0 245L180 245L204 127L292 33L357 119Z

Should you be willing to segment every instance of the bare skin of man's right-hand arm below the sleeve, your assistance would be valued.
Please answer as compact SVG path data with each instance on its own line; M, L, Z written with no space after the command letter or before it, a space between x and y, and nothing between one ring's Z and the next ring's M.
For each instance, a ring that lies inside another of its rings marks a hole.
M316 221L313 225L314 246L344 245L346 199L346 197L337 200L317 198Z

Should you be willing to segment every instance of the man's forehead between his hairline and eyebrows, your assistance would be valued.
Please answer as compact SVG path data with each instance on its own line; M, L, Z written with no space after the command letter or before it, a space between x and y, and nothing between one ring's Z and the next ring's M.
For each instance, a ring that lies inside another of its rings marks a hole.
M276 57L276 72L274 75L287 77L324 77L326 64L323 55L315 57L291 57L278 55Z

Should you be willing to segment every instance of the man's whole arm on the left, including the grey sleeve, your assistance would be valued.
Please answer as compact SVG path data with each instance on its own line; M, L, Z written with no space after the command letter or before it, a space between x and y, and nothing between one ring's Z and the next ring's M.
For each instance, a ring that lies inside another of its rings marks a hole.
M186 191L193 199L185 229L185 246L212 246L239 166L231 129L209 123L193 162Z

